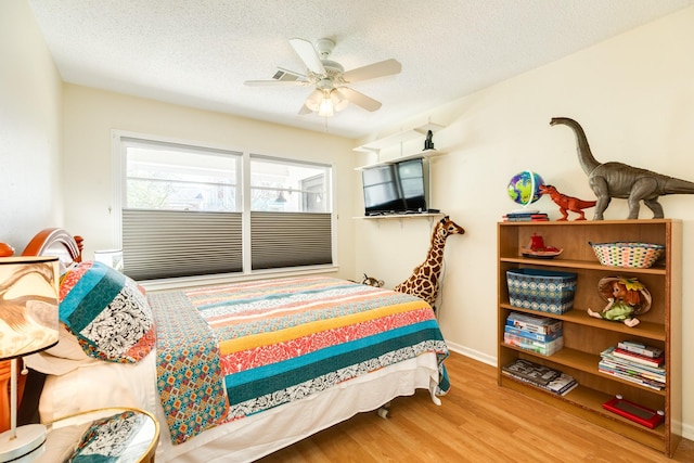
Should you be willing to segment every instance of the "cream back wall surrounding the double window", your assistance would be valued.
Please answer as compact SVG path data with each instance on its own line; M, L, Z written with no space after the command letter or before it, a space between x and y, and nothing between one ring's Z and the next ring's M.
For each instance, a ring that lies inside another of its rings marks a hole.
M339 137L64 86L65 221L85 236L85 255L113 247L112 133L123 130L182 143L318 160L334 166L339 275L355 278L352 142Z

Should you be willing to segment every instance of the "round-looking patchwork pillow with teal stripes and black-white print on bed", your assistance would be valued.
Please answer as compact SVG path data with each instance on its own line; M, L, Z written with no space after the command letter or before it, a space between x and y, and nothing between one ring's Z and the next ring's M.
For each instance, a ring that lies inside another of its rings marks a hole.
M95 359L136 363L155 344L152 309L138 284L102 262L81 262L62 276L60 320Z

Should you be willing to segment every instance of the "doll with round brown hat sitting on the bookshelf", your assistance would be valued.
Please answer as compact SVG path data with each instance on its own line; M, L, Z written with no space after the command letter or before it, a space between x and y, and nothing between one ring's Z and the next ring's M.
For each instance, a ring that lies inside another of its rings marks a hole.
M600 312L588 309L588 314L596 319L633 327L639 324L637 316L651 310L651 293L634 278L605 276L597 283L597 292L607 305Z

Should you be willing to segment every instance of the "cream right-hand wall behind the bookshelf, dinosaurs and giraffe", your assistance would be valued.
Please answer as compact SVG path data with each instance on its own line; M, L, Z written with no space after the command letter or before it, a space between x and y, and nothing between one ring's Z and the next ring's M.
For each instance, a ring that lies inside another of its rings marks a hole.
M436 147L449 154L433 163L433 207L467 231L450 237L446 248L440 323L451 346L496 363L496 223L517 207L506 196L510 178L532 169L565 194L594 198L571 131L550 127L552 117L578 120L600 162L620 160L694 181L692 56L694 8L410 120L411 126L428 118L447 125L434 136ZM409 126L403 121L393 132L400 127ZM613 201L605 218L626 218L625 203ZM683 419L692 439L694 312L689 309L694 293L686 290L694 276L694 195L665 196L661 204L666 217L683 221ZM534 206L560 217L548 197ZM650 217L642 207L640 218ZM357 271L388 286L406 279L424 259L428 226L422 219L359 221Z

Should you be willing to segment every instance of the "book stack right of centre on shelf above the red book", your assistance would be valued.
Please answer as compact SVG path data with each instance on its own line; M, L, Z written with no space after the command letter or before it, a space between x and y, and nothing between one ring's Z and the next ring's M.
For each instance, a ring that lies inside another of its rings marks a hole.
M601 352L597 369L606 374L656 390L665 389L666 368L663 349L631 340Z

